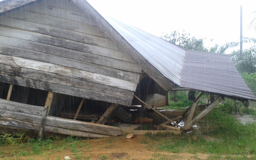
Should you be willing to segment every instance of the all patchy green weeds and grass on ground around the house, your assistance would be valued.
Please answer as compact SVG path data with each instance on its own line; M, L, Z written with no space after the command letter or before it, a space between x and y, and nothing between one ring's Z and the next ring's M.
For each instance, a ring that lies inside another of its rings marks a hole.
M187 100L188 92L177 92L177 102L173 101L170 95L171 105L168 109L186 108L191 105ZM200 100L201 104L207 103L208 95L204 95ZM140 143L147 145L148 150L155 151L151 160L171 159L158 151L167 151L177 155L179 153L190 153L191 159L200 159L198 153L208 154L209 160L253 160L256 159L256 123L242 124L233 115L245 114L256 117L254 103L251 103L248 110L245 110L242 103L232 99L225 99L225 102L215 107L197 125L198 128L191 129L192 132L182 132L181 135L171 133L146 133ZM145 128L147 126L144 126ZM196 136L197 140L192 137ZM103 149L113 148L115 140L106 139L110 145L103 146ZM99 145L101 143L99 142ZM87 139L68 136L60 138L51 136L45 139L35 139L25 137L24 134L10 135L5 134L0 137L0 146L10 146L10 150L0 150L0 158L35 160L32 156L44 156L47 160L60 160L63 157L61 152L69 150L72 152L70 157L74 160L90 160L90 156L85 152L91 152L91 146ZM90 155L90 154L89 154ZM10 156L12 158L10 158ZM177 157L173 157L174 159ZM24 159L24 158L23 158ZM100 160L108 160L111 157L106 155L98 156Z

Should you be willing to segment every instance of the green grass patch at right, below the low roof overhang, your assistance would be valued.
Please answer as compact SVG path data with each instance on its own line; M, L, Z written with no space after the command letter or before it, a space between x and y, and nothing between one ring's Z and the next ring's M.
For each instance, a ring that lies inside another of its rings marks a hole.
M145 136L155 144L156 149L173 153L256 154L256 123L243 125L221 109L213 109L201 121L199 133L148 133ZM194 135L198 140L192 139Z

